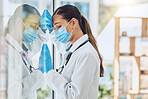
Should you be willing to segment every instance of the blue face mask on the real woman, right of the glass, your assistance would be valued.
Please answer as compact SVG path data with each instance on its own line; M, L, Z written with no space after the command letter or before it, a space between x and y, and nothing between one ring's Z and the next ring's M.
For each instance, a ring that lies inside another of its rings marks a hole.
M68 22L68 24L69 23L70 21ZM67 32L66 26L61 27L59 30L55 30L55 37L61 43L67 43L72 35L72 32L71 33Z

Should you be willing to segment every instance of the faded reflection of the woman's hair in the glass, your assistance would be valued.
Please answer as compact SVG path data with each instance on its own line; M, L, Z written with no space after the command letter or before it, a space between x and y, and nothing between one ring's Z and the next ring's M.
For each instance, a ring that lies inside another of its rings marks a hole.
M14 14L10 17L10 19L8 21L8 26L5 31L6 34L9 33L10 30L12 30L13 24L14 24L16 18L19 17L24 21L30 14L37 15L39 17L41 16L39 11L31 5L23 4L19 7L17 7L16 10L14 11Z

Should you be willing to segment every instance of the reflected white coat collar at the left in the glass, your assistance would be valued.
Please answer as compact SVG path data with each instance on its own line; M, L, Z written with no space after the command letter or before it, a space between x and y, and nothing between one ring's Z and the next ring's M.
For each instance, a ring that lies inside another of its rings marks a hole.
M22 52L23 49L21 48L20 44L10 35L7 34L6 35L6 40L8 41L8 43L15 48L15 50L17 52Z

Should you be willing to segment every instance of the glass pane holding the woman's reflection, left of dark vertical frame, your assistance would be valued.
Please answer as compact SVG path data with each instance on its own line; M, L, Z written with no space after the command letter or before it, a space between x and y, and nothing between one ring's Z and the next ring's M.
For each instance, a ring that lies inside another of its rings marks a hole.
M1 0L0 7L0 98L51 99L52 90L34 70L44 43L40 17L44 9L52 14L53 0Z

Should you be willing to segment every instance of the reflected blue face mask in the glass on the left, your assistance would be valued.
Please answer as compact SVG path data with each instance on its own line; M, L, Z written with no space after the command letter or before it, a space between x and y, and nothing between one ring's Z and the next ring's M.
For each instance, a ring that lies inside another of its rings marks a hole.
M31 43L37 38L37 34L38 34L38 31L33 30L29 26L26 26L25 31L23 32L23 40L26 43Z

